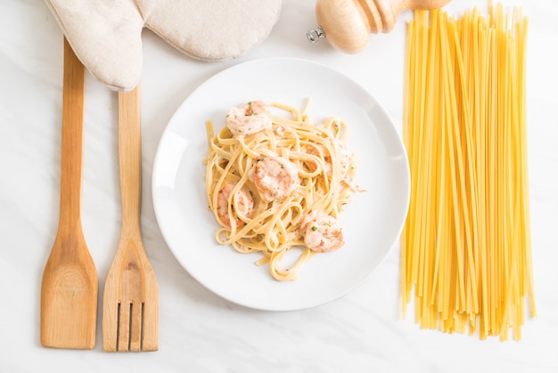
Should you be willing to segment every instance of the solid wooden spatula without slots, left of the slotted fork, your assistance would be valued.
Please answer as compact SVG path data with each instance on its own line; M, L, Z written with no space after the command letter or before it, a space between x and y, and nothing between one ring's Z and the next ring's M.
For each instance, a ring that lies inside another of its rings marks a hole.
M41 287L45 347L95 345L98 280L80 216L85 77L84 66L64 38L60 217Z

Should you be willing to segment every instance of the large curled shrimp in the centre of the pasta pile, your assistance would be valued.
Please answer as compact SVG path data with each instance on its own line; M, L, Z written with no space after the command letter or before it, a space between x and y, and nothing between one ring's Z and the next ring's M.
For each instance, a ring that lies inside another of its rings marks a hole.
M289 159L266 157L256 161L248 175L266 202L282 199L299 186L299 170Z

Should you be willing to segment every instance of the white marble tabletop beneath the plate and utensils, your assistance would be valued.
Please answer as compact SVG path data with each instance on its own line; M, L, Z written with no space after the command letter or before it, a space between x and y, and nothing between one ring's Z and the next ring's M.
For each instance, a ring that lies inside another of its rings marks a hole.
M62 32L42 0L0 3L0 372L558 372L558 2L505 1L529 16L528 120L532 243L538 318L521 342L421 330L399 308L398 247L362 286L300 312L259 312L203 288L176 262L155 220L152 164L178 105L208 77L242 61L294 56L353 77L400 128L404 24L372 36L364 53L309 45L314 1L284 0L281 19L236 61L193 61L144 32L144 243L160 284L160 351L104 353L101 313L93 351L47 349L39 342L40 285L59 208ZM488 1L454 0L459 13ZM100 295L119 239L116 95L90 75L82 219Z

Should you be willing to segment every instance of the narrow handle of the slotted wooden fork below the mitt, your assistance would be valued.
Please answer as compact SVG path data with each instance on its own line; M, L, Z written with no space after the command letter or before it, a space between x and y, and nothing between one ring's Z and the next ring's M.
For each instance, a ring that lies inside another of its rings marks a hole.
M140 85L119 92L119 172L122 227L140 231L142 199L142 141Z

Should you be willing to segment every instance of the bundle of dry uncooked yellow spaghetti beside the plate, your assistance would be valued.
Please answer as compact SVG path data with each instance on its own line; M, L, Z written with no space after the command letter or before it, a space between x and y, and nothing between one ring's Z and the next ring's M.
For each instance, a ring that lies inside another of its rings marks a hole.
M511 26L510 26L511 25ZM501 4L407 28L404 141L411 201L401 236L403 314L421 328L521 339L536 315L529 226L528 19Z

